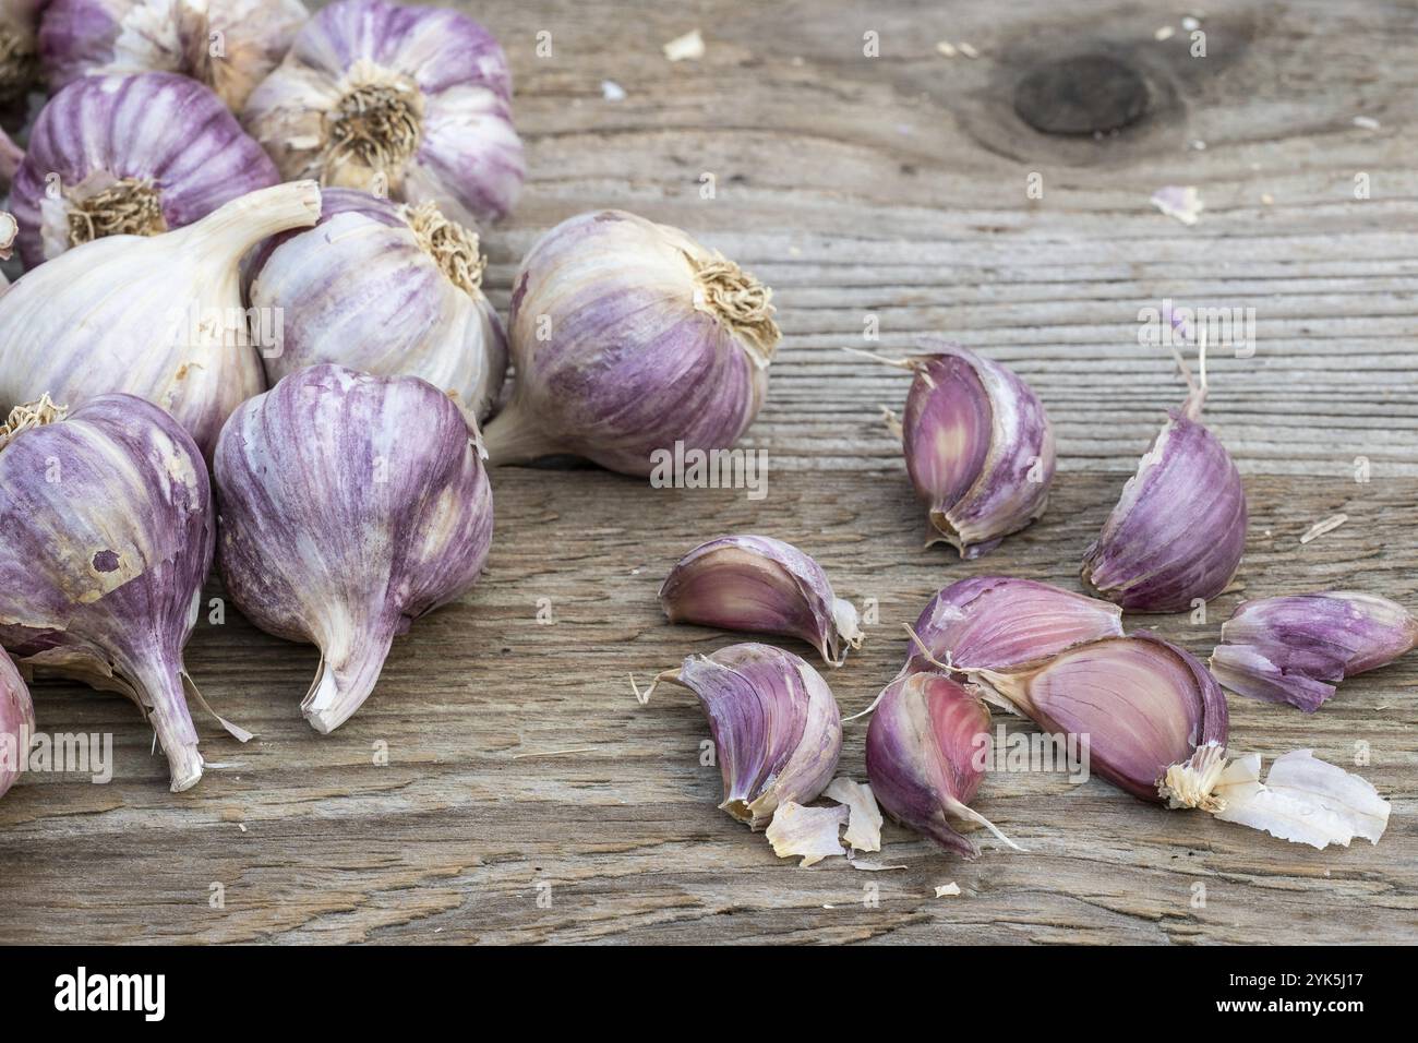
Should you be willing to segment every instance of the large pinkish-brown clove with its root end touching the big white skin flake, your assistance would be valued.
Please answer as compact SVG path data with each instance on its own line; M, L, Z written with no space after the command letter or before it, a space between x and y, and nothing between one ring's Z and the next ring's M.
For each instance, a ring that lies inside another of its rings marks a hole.
M1147 631L991 675L988 692L1046 732L1086 736L1099 775L1143 800L1160 802L1163 782L1183 788L1180 766L1198 748L1227 744L1227 701L1215 678L1191 653Z

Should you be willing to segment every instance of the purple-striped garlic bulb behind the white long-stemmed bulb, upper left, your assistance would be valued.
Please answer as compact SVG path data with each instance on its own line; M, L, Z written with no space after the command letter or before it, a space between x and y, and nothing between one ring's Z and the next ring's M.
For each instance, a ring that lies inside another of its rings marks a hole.
M281 180L211 91L172 72L89 77L40 111L14 179L27 268L102 236L155 236Z

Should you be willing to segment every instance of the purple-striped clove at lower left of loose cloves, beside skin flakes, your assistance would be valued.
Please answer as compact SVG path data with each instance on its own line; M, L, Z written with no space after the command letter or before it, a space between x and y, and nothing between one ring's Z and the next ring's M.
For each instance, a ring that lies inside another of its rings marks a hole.
M658 681L699 697L723 775L719 807L739 822L763 829L778 806L815 800L832 780L841 712L822 675L791 651L730 644Z

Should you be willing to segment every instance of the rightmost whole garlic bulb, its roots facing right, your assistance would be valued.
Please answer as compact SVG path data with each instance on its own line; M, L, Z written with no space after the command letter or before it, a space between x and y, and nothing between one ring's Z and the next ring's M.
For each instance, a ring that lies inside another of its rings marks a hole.
M562 221L513 281L518 379L488 424L491 461L574 453L649 475L676 443L727 448L767 394L770 298L679 228L620 210Z

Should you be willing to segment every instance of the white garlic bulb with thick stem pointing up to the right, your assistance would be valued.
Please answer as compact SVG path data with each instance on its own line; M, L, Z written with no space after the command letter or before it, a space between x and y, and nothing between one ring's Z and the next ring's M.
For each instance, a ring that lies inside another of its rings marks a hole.
M248 316L241 255L319 213L313 182L275 184L184 228L108 236L26 272L0 297L0 404L126 392L210 454L231 410L265 387L257 351L279 321Z

